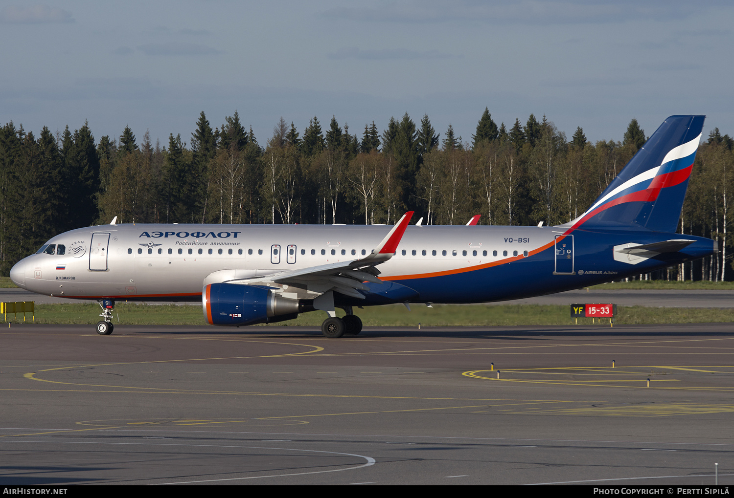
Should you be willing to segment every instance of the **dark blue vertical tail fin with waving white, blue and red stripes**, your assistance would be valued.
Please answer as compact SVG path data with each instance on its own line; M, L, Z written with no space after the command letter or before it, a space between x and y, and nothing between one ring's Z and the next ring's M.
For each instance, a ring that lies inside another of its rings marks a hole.
M630 226L675 232L705 116L671 116L586 210L576 228Z

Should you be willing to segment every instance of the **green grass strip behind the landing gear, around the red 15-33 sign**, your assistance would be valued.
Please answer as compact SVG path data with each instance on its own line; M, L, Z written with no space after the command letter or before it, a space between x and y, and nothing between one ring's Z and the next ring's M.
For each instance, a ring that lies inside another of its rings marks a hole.
M523 325L570 325L568 306L539 304L505 304L498 306L435 305L427 308L422 304L411 305L408 311L401 304L355 309L366 326L523 326ZM36 306L35 323L93 324L101 320L101 308L96 304L39 304ZM341 316L341 310L339 315ZM200 306L175 306L172 304L151 305L119 303L115 308L115 321L137 325L201 325L206 326ZM275 325L314 326L321 325L324 312L310 312L296 320ZM8 321L23 321L10 315ZM1 319L1 318L0 318ZM32 321L26 313L26 321ZM734 309L729 308L653 308L618 307L616 324L643 323L711 323L734 322ZM580 324L591 324L590 318L580 318ZM603 320L602 323L605 323Z

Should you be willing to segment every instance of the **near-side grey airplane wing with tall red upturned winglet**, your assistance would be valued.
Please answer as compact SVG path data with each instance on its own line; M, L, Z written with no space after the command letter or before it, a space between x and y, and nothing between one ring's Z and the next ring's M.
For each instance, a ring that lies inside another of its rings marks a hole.
M360 290L370 292L363 282L382 284L377 278L379 270L375 268L393 257L405 229L413 216L413 211L405 213L385 238L366 257L354 260L338 261L327 265L310 266L295 270L279 271L275 274L250 279L229 280L230 284L242 285L294 285L308 288L311 292L327 293L329 290L365 299Z

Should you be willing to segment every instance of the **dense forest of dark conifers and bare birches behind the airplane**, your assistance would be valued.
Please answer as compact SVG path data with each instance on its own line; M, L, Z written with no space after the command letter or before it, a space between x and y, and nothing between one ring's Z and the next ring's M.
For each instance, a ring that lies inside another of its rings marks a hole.
M642 147L631 120L621 141L571 139L534 114L511 127L479 118L470 142L429 117L391 117L351 133L332 117L298 131L280 118L258 142L237 111L212 127L202 111L188 143L161 146L131 128L95 141L89 125L38 138L12 122L0 128L0 271L51 236L120 223L392 224L406 210L424 224L546 225L586 210ZM701 144L680 230L719 241L719 255L656 278L731 279L733 139L714 129Z

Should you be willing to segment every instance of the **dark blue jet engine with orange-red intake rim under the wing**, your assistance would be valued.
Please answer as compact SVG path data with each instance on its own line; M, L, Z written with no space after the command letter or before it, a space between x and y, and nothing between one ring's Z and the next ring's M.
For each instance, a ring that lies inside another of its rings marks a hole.
M204 318L211 325L252 325L297 318L300 307L270 288L217 283L205 285L202 293ZM313 308L310 308L313 310Z

